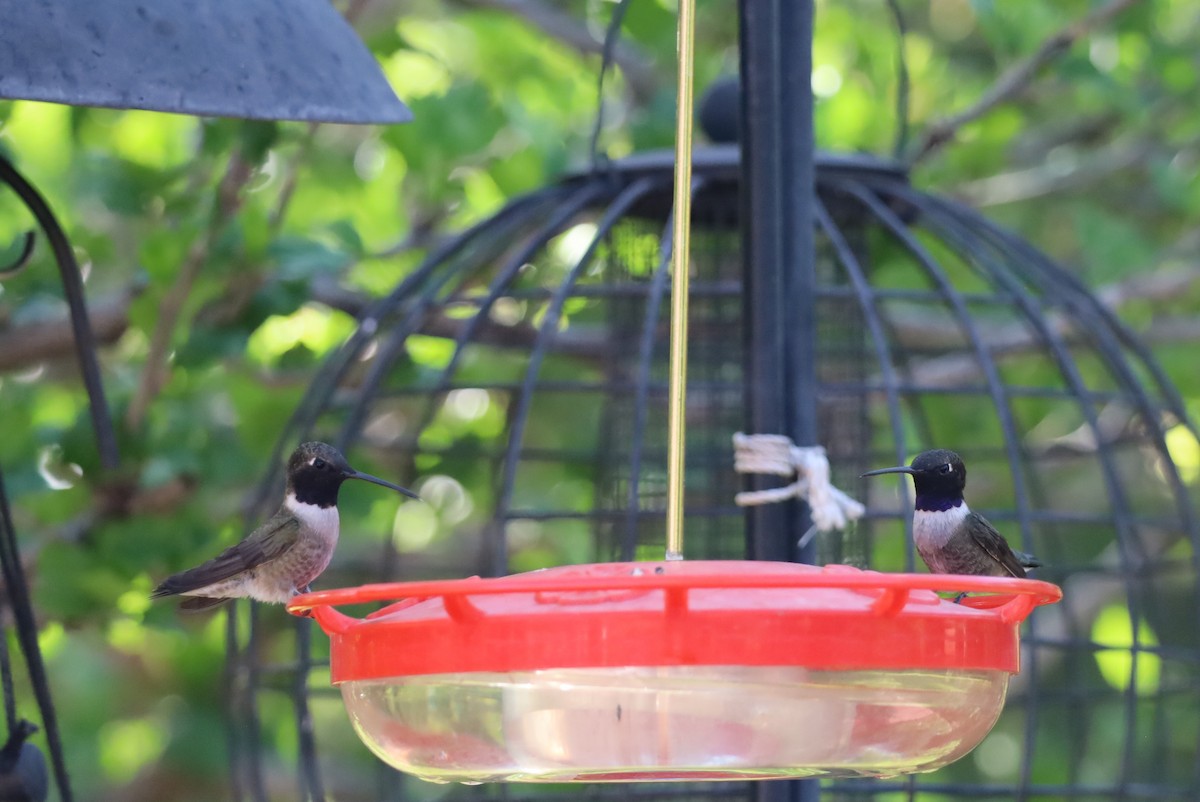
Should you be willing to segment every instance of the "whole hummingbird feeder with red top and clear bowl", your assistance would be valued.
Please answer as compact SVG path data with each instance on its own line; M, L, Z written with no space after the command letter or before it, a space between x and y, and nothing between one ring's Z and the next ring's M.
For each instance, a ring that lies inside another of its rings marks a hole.
M982 593L954 604L935 591ZM932 771L983 740L1036 580L612 563L296 597L354 728L432 782ZM365 618L335 605L396 600Z

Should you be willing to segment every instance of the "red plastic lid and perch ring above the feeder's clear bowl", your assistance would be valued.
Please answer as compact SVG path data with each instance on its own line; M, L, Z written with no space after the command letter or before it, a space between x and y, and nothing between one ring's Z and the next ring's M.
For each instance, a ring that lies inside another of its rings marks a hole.
M935 591L985 595L954 604ZM635 665L1016 672L1020 622L1061 598L1028 579L676 561L365 585L298 595L288 610L330 636L340 683ZM361 620L334 606L396 599Z

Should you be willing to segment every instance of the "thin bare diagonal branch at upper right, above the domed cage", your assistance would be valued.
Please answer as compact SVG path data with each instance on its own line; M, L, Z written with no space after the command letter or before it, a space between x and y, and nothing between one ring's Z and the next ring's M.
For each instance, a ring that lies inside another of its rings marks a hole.
M1054 34L1032 55L1006 70L974 103L958 114L936 120L930 125L922 137L916 155L910 160L910 164L916 164L934 150L954 139L964 125L974 122L1001 103L1006 103L1024 92L1043 67L1067 53L1080 38L1138 2L1141 0L1109 0L1108 4L1094 8L1082 19Z

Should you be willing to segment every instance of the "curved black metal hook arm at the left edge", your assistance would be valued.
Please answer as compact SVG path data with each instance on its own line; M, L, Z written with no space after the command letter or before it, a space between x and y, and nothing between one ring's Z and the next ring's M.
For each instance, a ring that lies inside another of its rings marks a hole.
M71 311L71 328L74 330L76 354L79 357L79 370L83 373L83 384L88 390L88 401L91 409L91 425L96 432L96 448L100 450L100 462L106 468L115 468L120 462L116 450L116 432L113 430L113 419L108 412L108 401L104 397L104 388L100 381L100 364L96 361L96 339L91 333L91 322L88 319L88 305L83 294L83 276L79 274L79 264L76 262L74 251L67 240L66 233L50 211L50 207L42 198L41 193L32 184L25 180L17 168L7 158L0 155L0 182L7 184L12 191L24 202L25 207L42 227L46 240L54 251L54 261L59 265L59 275L62 279L62 292L67 299L67 307ZM32 238L26 235L24 253L18 258L18 267L29 258L32 246ZM10 268L10 273L12 269Z

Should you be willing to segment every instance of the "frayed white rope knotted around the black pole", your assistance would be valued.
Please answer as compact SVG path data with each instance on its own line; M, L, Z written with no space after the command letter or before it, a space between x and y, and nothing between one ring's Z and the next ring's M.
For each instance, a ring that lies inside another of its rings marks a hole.
M788 498L808 502L812 525L822 531L844 529L866 508L829 484L829 460L820 445L800 448L782 435L733 435L733 469L796 477L786 487L748 490L733 497L739 507L773 504Z

